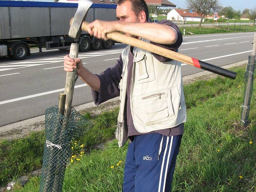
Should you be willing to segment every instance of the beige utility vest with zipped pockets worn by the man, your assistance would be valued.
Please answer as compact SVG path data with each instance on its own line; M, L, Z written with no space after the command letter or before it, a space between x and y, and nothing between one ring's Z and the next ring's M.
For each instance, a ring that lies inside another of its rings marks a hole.
M148 40L142 39L148 42ZM116 139L119 147L128 140L124 122L127 88L127 64L130 46L122 52L123 72L119 83L120 110ZM179 61L159 62L151 52L136 48L132 67L130 104L135 129L147 133L175 127L187 119L181 64Z

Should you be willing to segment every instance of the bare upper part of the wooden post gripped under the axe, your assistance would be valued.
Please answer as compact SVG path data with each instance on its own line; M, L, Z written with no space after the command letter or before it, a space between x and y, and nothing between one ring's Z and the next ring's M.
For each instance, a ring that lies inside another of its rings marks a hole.
M70 47L69 57L72 59L76 59L78 57L78 48L79 44L72 43ZM75 80L76 80L76 69L72 72L67 72L66 76L66 84L65 84L65 94L66 94L66 102L65 102L65 111L67 113L67 118L70 115L70 109L73 100L73 93L75 87Z

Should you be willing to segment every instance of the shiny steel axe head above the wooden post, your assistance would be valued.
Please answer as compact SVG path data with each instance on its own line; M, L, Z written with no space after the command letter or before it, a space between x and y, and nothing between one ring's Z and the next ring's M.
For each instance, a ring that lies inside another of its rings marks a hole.
M81 25L84 19L86 18L86 14L89 8L92 5L92 1L90 0L79 0L78 1L78 8L76 10L74 19L70 26L68 36L78 39L82 33Z

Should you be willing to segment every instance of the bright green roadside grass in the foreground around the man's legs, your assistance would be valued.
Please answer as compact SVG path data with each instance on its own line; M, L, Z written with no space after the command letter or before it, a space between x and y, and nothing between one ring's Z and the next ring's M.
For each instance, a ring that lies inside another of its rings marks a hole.
M236 69L236 80L217 77L184 86L188 121L177 158L173 192L256 190L255 92L250 125L238 126L244 69ZM104 150L93 150L79 162L69 164L63 191L121 192L126 150L127 144L118 148L115 140ZM32 177L24 188L16 186L14 191L38 191L39 181L40 177Z

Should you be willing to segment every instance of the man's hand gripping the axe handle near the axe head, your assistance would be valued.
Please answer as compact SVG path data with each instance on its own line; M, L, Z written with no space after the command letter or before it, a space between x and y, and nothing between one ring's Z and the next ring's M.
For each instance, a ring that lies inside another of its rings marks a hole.
M118 21L95 20L87 25L87 31L91 36L107 41L106 34L117 31L117 24Z

